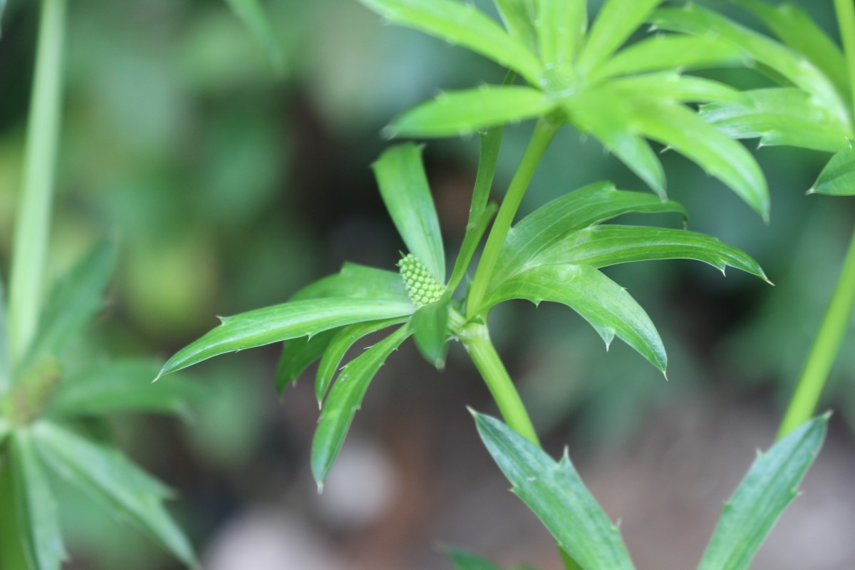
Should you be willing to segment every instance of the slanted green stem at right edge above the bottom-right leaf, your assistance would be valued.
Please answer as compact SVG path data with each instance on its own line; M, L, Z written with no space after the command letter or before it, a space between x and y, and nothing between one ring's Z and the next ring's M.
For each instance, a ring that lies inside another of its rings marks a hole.
M805 361L799 384L790 400L787 414L781 422L778 438L783 438L787 433L810 420L817 408L819 397L828 380L828 373L834 365L834 359L840 350L846 326L852 318L852 309L855 308L855 233L852 234L852 242L846 253L843 263L843 271L837 279L837 286L828 310L823 318L823 324L819 327L817 338L814 340L811 352Z

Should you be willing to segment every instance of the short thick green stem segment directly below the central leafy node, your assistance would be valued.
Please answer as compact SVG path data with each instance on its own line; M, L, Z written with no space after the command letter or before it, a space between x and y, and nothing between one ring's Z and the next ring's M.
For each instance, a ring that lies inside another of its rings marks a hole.
M492 345L486 325L470 323L465 326L460 333L460 341L469 351L469 356L475 362L475 367L478 368L478 372L484 378L505 423L540 447L540 440L537 437L537 432L534 431L532 420L528 417L528 412L522 405L522 399L520 399L508 371L505 370L504 364L502 364L495 347Z

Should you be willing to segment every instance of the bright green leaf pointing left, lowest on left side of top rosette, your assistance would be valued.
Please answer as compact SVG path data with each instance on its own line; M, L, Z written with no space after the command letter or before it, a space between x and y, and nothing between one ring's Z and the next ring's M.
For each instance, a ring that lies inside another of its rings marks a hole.
M543 91L521 85L441 93L386 127L391 137L457 137L491 126L533 119L555 109Z

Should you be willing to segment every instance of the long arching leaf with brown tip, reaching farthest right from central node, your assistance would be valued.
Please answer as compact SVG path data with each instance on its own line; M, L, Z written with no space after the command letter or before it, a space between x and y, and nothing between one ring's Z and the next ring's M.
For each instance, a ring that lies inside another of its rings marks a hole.
M567 263L607 267L628 261L693 259L704 261L724 273L735 267L766 279L757 261L718 239L703 233L643 226L591 226L571 234L536 256L531 263Z

